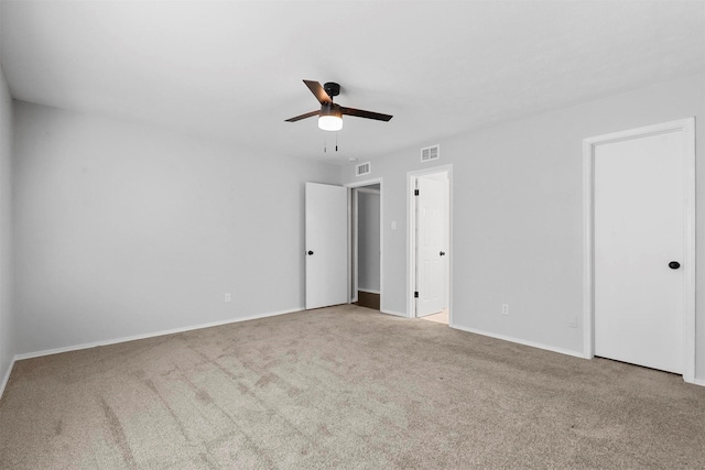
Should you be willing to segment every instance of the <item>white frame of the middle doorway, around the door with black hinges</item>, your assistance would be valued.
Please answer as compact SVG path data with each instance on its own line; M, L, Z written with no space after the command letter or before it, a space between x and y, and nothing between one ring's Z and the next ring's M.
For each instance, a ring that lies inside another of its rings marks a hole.
M414 291L416 286L416 199L414 188L416 179L420 176L432 175L435 173L445 173L448 177L447 205L448 220L447 233L448 253L447 253L447 285L445 286L447 307L448 307L448 326L453 326L453 164L432 166L424 170L415 170L406 173L406 316L416 318L416 303L414 299Z

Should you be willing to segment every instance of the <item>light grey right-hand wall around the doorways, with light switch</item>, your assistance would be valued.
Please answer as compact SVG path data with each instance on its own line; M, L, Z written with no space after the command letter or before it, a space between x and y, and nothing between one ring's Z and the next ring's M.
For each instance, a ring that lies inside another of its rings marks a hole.
M384 179L384 305L406 311L406 172L453 164L453 320L565 351L583 351L584 138L697 117L697 200L705 200L705 80L653 85L568 109L480 129L375 161ZM356 179L355 165L343 171ZM395 220L398 230L391 230ZM697 356L705 351L705 204L697 206ZM502 316L500 305L510 305ZM568 327L571 317L578 327ZM705 380L705 360L696 378Z

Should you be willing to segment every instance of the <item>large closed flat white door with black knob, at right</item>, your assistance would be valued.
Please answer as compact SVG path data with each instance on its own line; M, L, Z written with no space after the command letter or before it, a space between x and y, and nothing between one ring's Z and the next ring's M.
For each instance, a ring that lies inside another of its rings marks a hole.
M683 373L683 132L594 150L595 354ZM672 263L670 265L670 263Z

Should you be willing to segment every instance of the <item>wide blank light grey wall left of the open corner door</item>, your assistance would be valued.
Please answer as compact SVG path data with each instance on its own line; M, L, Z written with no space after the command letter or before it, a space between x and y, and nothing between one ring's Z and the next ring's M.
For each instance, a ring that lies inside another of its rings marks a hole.
M340 177L25 102L14 163L18 353L303 308L304 182Z

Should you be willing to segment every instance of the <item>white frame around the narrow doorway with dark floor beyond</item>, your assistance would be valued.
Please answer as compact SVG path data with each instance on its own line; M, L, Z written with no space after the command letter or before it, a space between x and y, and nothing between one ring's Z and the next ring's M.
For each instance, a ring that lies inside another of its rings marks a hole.
M358 288L358 205L357 205L357 192L352 189L361 188L364 186L372 186L379 184L379 309L384 309L384 184L381 177L365 179L361 182L348 183L345 187L348 189L348 217L350 228L350 236L348 237L348 288L350 303L357 302L357 288ZM354 204L355 199L355 204Z

